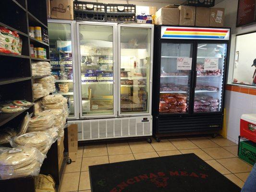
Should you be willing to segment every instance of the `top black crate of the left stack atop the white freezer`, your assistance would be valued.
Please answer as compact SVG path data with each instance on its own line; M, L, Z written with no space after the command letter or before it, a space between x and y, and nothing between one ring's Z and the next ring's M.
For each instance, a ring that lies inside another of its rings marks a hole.
M86 12L106 12L105 3L87 2L87 1L74 1L74 11Z

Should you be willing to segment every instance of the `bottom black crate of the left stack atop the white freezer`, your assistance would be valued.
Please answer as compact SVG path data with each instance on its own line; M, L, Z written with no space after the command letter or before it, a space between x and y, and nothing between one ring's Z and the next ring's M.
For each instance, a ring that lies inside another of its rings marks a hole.
M105 12L74 12L74 19L80 21L99 21L106 22Z

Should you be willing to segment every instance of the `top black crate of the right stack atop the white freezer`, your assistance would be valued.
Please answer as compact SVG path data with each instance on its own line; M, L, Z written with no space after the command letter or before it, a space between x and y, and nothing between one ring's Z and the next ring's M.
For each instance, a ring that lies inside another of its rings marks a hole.
M106 13L136 13L136 5L133 4L106 4Z

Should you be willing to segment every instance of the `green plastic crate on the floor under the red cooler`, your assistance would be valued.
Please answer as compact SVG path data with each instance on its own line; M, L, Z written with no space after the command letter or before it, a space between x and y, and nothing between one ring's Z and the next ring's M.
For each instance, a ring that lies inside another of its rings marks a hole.
M239 158L254 165L256 162L256 143L241 141L239 147Z

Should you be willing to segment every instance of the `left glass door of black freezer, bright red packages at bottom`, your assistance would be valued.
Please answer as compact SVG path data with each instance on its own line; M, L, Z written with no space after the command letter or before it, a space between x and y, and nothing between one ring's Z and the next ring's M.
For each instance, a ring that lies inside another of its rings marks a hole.
M193 44L162 43L159 113L188 113Z

